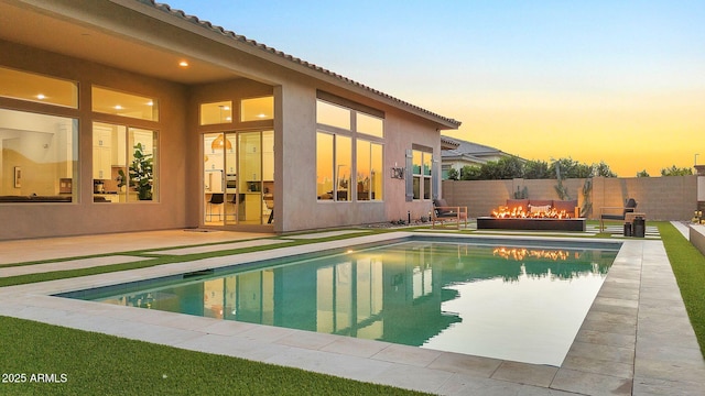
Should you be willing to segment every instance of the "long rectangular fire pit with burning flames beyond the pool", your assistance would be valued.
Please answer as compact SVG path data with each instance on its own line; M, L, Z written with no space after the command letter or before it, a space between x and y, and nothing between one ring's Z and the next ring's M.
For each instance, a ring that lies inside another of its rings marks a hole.
M585 231L585 219L551 206L503 207L477 218L478 230Z

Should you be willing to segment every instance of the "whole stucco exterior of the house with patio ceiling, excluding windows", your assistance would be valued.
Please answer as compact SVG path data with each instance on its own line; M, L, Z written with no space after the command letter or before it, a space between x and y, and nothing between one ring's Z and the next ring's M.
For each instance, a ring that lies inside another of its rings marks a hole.
M12 227L0 229L0 240L204 227L203 134L250 129L274 131L275 220L226 229L289 232L405 219L406 213L417 218L431 210L431 199L406 201L405 183L391 178L391 167L403 167L405 152L415 145L430 148L440 160L440 131L457 128L455 120L149 1L18 0L0 3L0 67L68 79L79 87L78 109L0 98L2 109L79 121L76 199L69 204L3 202L0 222ZM30 20L33 32L23 23ZM86 41L52 37L44 31L52 29ZM82 51L84 45L95 53ZM173 67L182 57L194 61L191 70ZM158 98L159 121L93 113L94 85ZM316 100L321 92L384 114L382 200L316 199ZM236 103L262 95L274 98L273 120L199 124L203 102ZM94 204L93 121L159 133L158 199Z

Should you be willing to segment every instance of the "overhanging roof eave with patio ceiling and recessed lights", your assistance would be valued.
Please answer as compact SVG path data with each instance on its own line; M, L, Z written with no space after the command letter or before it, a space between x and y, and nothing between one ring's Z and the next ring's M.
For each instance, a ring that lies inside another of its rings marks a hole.
M0 0L0 38L185 85L241 77L276 84L246 72L265 61L419 116L438 130L460 125L152 0ZM183 59L188 68L178 67Z

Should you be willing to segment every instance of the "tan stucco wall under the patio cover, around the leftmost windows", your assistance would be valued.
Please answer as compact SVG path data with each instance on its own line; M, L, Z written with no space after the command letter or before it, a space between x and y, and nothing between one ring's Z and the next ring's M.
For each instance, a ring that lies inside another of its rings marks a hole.
M0 206L0 240L52 235L122 232L143 229L170 229L191 224L184 207L196 188L187 177L187 164L195 158L186 151L184 87L167 81L112 69L76 58L0 41L0 64L7 67L56 76L79 84L79 109L0 98L0 107L40 113L79 118L79 194L75 204L3 204ZM119 84L117 84L119 81ZM160 121L154 123L109 114L93 116L91 85L139 92L159 98ZM159 167L169 169L161 177L159 202L126 205L93 202L91 121L112 122L156 130L160 141ZM186 160L186 161L185 161Z

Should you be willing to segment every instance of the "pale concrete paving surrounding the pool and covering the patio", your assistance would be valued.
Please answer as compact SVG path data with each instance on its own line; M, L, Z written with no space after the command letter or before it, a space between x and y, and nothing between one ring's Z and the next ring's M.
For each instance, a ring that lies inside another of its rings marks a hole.
M283 237L283 248L263 252L3 287L0 288L0 315L443 395L703 394L705 361L665 250L658 240L625 241L560 367L48 296L406 234L400 231L300 246L286 246L286 237ZM150 242L135 242L142 237ZM141 249L156 250L253 238L271 243L271 237L159 231L131 234L124 240L119 235L42 240L41 254L36 252L40 249L35 249L32 258L14 261L6 258L4 253L32 244L9 241L0 242L0 257L8 260L6 263L17 263L99 254L100 251L119 253L137 250L135 243L145 246ZM130 240L130 248L124 249L122 242ZM37 241L30 242L37 245ZM218 250L218 245L212 248Z

